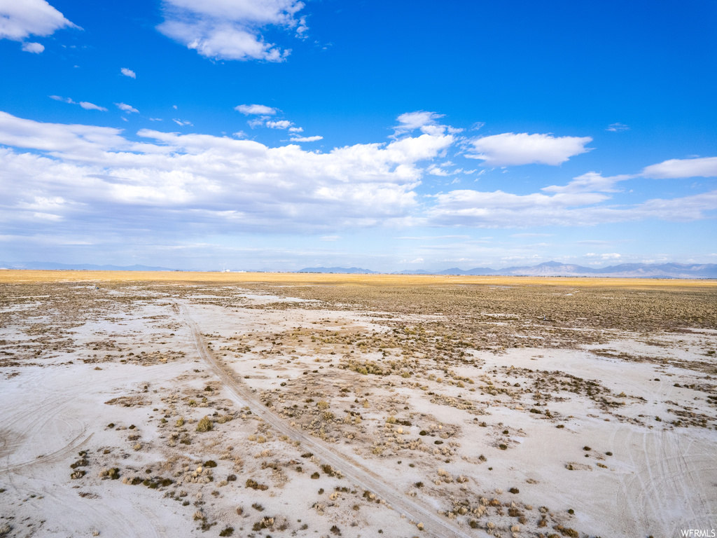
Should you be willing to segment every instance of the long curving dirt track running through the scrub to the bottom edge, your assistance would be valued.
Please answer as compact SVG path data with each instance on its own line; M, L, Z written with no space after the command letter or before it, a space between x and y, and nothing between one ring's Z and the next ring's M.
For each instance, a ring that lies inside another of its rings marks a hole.
M226 367L222 367L222 365L212 357L212 354L204 344L199 326L197 326L189 314L189 309L186 305L181 305L180 308L184 321L189 326L189 329L191 329L199 357L214 370L219 379L224 383L224 386L237 397L239 402L251 408L252 413L270 424L278 432L282 433L282 435L288 435L289 438L300 441L303 445L310 448L316 456L341 471L345 478L356 483L357 486L372 491L381 499L384 499L391 509L399 511L399 513L404 514L414 522L423 523L428 535L446 538L472 538L476 535L463 532L462 529L457 528L454 524L438 516L434 510L419 504L418 501L407 499L392 486L386 484L376 473L369 471L369 469L353 460L353 458L333 452L331 448L320 443L319 440L291 428L282 418L268 410L262 402L257 400L257 398L252 395L251 389L239 380L239 376L235 372L231 372ZM485 534L483 531L479 531L478 529L476 529L476 531L482 536L488 536L488 534Z

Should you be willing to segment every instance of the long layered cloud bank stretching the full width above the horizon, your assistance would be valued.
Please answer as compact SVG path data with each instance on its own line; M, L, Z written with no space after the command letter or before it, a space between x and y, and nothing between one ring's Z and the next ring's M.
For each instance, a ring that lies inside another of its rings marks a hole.
M0 144L6 146L0 147L0 225L18 237L52 233L81 239L123 230L123 240L130 240L151 230L160 240L285 230L336 235L362 227L685 222L714 217L717 210L717 191L616 204L614 193L635 176L597 172L528 194L455 189L422 195L421 181L437 164L450 164L445 153L459 138L445 126L423 133L433 125L419 123L414 136L321 152L295 143L270 147L151 129L133 140L118 128L42 123L0 112ZM715 175L715 160L687 159L677 168L665 161L645 170Z

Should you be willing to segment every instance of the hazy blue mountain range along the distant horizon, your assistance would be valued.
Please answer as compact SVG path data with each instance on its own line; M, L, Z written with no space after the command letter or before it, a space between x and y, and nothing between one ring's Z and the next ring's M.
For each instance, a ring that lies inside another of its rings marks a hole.
M148 265L92 265L90 263L52 262L0 262L2 269L44 269L44 270L105 270L105 271L174 271L166 267ZM234 271L232 271L234 272ZM270 272L270 270L260 270ZM296 273L346 273L378 274L378 271L359 267L307 267ZM559 262L538 265L521 265L503 269L477 267L462 270L450 268L442 271L405 269L394 275L496 275L496 276L594 276L622 278L717 278L717 264L714 263L622 263L604 268L583 267Z

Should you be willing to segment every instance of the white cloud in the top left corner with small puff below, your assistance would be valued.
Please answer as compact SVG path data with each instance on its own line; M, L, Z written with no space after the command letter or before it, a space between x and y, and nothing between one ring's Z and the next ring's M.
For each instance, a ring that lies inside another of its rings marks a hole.
M60 28L79 28L45 0L0 2L0 39L22 41L30 35L48 36ZM27 48L26 48L27 47ZM42 52L39 43L25 43L23 50Z

